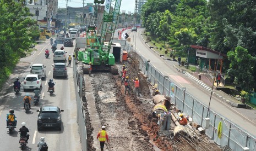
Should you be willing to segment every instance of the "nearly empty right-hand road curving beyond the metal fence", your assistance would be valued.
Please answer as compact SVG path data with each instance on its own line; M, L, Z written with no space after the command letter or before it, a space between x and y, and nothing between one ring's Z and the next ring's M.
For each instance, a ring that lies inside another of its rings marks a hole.
M176 69L173 68L173 64L177 64L177 62L163 60L152 50L150 50L141 38L141 31L143 31L143 28L138 28L138 32L131 32L131 30L126 31L131 38L131 42L129 43L134 45L134 48L136 48L137 52L143 55L146 59L149 59L150 63L152 63L155 68L157 68L164 75L167 75L172 82L179 86L179 88L187 88L186 91L190 95L208 106L210 100L210 92L203 89L192 79L187 78L186 75L177 72ZM233 121L233 123L241 126L243 129L256 136L256 123L242 113L239 113L241 112L241 109L239 109L238 112L236 108L228 106L215 96L211 98L210 108L215 112L224 115L226 118ZM244 109L244 112L247 112L246 109Z

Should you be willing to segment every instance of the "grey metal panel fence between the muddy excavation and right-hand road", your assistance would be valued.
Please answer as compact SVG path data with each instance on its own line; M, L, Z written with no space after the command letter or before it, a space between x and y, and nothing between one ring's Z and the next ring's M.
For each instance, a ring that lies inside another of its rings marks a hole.
M136 51L126 40L113 39L113 43L120 43L122 50ZM193 118L193 121L199 125L205 124L205 118L208 107L194 98L187 91L179 88L170 79L158 71L147 59L141 56L140 70L148 76L151 83L157 86L157 89L166 96L172 98L173 103L183 111L184 114ZM210 118L210 127L205 129L205 134L216 144L224 147L228 146L232 150L243 151L245 147L249 150L256 150L256 136L244 130L241 126L233 123L223 115L209 109L208 118ZM218 137L218 124L222 123L221 137ZM205 127L203 127L205 128Z

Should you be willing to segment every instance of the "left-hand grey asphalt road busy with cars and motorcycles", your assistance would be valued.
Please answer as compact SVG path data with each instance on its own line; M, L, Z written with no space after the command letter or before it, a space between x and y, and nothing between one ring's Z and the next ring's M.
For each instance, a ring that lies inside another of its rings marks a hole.
M58 49L62 44L58 44ZM53 53L50 51L50 57L45 58L44 51L46 48L51 50L50 40L47 40L46 43L42 43L36 46L37 51L31 56L21 59L21 62L28 62L27 65L32 63L43 63L46 66L46 79L42 80L42 90L41 98L39 105L34 106L34 103L31 101L31 113L26 114L23 109L23 97L26 92L23 91L23 84L21 84L21 91L19 94L15 95L13 91L12 82L10 81L9 86L6 88L6 95L0 97L0 150L21 150L19 145L19 133L18 129L21 127L21 123L24 121L26 127L30 129L30 140L27 144L25 150L37 150L37 143L40 140L40 137L45 137L45 141L48 144L49 150L81 150L81 143L78 131L77 124L77 105L75 102L75 93L74 93L74 82L73 82L73 68L67 67L68 78L56 78L54 82L55 94L50 96L48 90L48 80L52 79L52 64L53 64ZM74 47L65 47L67 56L72 54ZM30 68L26 66L24 68L19 68L10 76L14 77L25 77L26 74L29 74ZM21 79L24 81L24 79ZM5 91L5 90L3 90ZM31 98L34 98L34 94L29 91ZM62 130L58 131L57 129L45 129L42 131L37 131L37 112L41 106L58 106L63 109L62 112ZM9 134L8 129L6 128L6 114L9 113L9 109L12 108L15 110L15 115L17 117L17 129L11 134Z

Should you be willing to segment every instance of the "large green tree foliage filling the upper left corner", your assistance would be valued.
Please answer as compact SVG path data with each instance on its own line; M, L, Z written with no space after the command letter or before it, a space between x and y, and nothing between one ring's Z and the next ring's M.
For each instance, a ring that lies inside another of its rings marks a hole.
M22 3L9 0L0 1L0 79L6 78L10 69L24 56L39 36L38 28L29 9Z

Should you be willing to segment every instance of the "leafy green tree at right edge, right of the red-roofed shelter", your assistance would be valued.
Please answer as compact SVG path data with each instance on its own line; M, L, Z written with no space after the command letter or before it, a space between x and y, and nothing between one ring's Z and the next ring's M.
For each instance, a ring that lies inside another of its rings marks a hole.
M230 63L230 69L227 74L235 78L235 83L241 85L243 90L252 91L254 88L253 69L256 63L256 57L248 54L248 50L240 46L236 47L235 52L229 51L227 53Z

